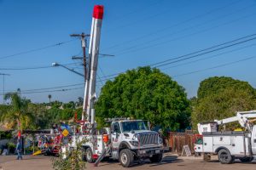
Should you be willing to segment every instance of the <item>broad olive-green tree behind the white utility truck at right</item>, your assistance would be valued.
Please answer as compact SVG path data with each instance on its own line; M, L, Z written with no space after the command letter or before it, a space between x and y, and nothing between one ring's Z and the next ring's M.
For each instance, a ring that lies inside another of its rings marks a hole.
M250 111L256 108L255 89L248 82L231 77L207 78L200 83L197 96L193 101L194 127L198 122L224 119L235 116L236 111Z

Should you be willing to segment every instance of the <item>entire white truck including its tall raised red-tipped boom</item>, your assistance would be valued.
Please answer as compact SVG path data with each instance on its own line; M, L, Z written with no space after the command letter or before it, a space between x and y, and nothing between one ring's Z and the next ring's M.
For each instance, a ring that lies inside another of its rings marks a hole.
M70 147L76 147L76 141L86 139L83 146L83 157L97 165L102 158L119 160L123 167L131 167L134 161L149 158L152 162L160 162L163 156L163 140L159 133L151 131L148 122L130 120L129 118L109 119L110 127L96 130L96 71L102 28L103 6L94 7L90 32L89 58L90 68L88 81L84 89L84 112L81 132L73 135ZM64 150L65 151L65 150Z

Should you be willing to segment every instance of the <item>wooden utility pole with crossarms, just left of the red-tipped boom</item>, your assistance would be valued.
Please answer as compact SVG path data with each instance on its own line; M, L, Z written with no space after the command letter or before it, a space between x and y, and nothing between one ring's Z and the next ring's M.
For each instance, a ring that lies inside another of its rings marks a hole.
M84 32L82 32L82 34L72 34L70 35L71 37L80 37L81 38L81 45L82 45L82 49L83 49L83 57L79 58L79 57L73 57L73 59L83 59L83 65L84 65L84 83L85 83L85 87L84 87L84 104L83 104L83 112L82 112L82 121L84 121L84 115L86 112L86 108L88 105L88 83L89 83L89 68L87 66L86 63L86 37L90 37L90 34L84 34ZM90 58L89 58L89 65L90 65Z

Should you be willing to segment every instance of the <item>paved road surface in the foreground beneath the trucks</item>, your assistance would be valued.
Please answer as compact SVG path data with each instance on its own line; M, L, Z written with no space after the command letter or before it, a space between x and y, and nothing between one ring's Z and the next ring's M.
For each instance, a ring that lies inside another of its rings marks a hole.
M50 170L51 166L50 156L24 156L22 161L15 160L15 156L0 156L0 170ZM2 169L1 169L2 167ZM98 167L93 164L86 164L87 169L96 170L113 170L113 169L127 169L122 167L117 161L103 161ZM166 155L160 164L152 164L149 161L143 161L130 167L132 170L149 170L149 169L172 169L172 170L255 170L256 161L250 163L241 163L236 160L236 163L230 165L222 165L217 160L202 161L202 158L191 157L177 157L174 155Z

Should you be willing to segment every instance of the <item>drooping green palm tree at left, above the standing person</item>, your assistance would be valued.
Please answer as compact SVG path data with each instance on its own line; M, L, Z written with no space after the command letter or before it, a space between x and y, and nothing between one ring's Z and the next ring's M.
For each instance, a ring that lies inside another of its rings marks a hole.
M33 116L28 111L29 99L21 99L18 93L9 93L4 95L4 99L11 100L11 109L4 113L3 121L9 122L12 127L17 124L18 129L22 130L32 125Z

